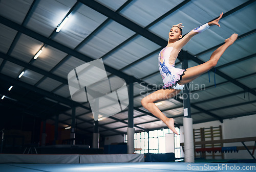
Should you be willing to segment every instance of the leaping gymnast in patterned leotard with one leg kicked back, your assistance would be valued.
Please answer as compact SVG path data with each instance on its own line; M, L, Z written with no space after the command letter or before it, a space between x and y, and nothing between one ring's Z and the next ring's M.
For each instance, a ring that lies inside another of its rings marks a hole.
M202 26L193 29L182 38L182 23L174 25L169 32L168 44L159 53L158 65L159 71L163 78L163 89L157 90L150 95L145 96L141 100L142 106L150 111L153 115L161 119L167 127L174 133L177 133L174 127L174 119L166 117L155 105L156 101L168 100L177 95L184 87L185 84L195 80L197 77L207 72L217 65L218 60L225 52L225 50L236 41L238 34L231 35L225 40L212 55L209 61L198 66L190 67L187 69L178 69L174 67L175 60L178 57L181 48L195 35L208 29L210 26L217 25L220 27L219 20L223 13L216 20L203 24ZM181 39L182 38L182 39ZM166 89L168 88L168 89Z

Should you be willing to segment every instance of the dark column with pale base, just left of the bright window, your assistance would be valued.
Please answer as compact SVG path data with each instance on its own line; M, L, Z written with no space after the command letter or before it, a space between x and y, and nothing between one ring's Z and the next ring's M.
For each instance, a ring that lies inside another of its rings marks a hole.
M130 77L128 85L129 106L128 106L128 128L127 128L127 153L134 153L134 122L133 122L133 78Z

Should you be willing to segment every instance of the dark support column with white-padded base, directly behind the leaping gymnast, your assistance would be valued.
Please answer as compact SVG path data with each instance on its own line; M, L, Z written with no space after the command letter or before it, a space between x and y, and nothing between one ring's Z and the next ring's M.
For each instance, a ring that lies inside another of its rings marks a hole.
M188 68L187 53L183 53L182 69ZM185 162L195 162L194 138L193 138L193 119L190 112L190 91L189 83L183 89L183 106L184 106L184 156Z

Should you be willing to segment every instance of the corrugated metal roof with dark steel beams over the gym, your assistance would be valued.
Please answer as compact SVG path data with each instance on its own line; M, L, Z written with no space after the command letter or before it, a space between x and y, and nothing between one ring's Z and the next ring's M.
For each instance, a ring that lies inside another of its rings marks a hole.
M90 7L88 2L95 4ZM29 114L47 117L49 124L55 123L55 113L51 111L58 110L59 125L71 125L71 107L75 106L78 131L93 132L90 104L71 100L67 76L74 68L101 58L108 76L122 76L126 84L132 77L135 82L135 130L166 128L140 103L144 96L163 86L158 72L158 54L164 46L160 42L166 40L167 44L173 24L182 22L184 35L221 12L221 27L214 26L196 35L181 52L194 57L188 59L189 67L196 66L199 60L206 62L232 33L239 34L220 58L216 73L213 69L189 84L193 122L218 120L212 114L225 119L256 113L253 0L2 0L0 9L0 94L13 85L15 90L8 96L17 100L16 105L28 109ZM69 21L60 32L55 32L66 15ZM41 55L34 60L41 47ZM178 59L176 64L181 68ZM18 78L22 71L24 76ZM100 92L103 87L97 89ZM26 105L26 101L33 103ZM0 103L11 105L5 100ZM177 126L183 124L182 92L158 107L167 117L174 117ZM103 118L99 121L100 134L125 133L127 114L125 108Z

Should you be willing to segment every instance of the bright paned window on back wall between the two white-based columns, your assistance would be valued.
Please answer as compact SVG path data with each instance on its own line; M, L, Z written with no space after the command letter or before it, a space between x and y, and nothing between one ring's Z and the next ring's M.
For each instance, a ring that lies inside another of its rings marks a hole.
M175 128L180 133L179 128ZM165 134L173 133L170 129L153 130L147 132L140 132L134 134L134 148L141 148L136 150L137 154L146 153L166 153L165 150ZM127 142L127 135L125 135L125 142ZM149 146L148 146L149 145ZM180 158L180 135L174 136L175 157Z

